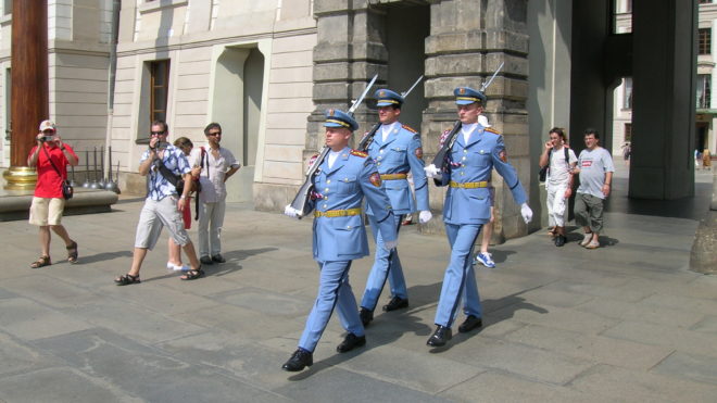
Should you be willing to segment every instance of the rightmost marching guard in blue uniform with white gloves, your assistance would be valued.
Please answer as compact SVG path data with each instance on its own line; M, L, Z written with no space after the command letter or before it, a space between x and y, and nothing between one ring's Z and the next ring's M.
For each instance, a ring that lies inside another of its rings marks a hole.
M467 315L458 331L467 332L482 326L482 311L476 276L470 264L473 248L483 224L490 219L490 177L493 167L503 177L526 223L532 218L527 197L515 168L507 162L503 136L478 123L486 96L468 87L454 90L458 108L461 130L448 153L448 172L442 172L441 185L449 186L443 205L445 232L451 244L451 261L445 269L441 297L435 323L436 331L427 344L441 347L451 339L451 326L456 318L458 303L463 297L463 310ZM448 141L450 129L441 137ZM426 173L432 177L438 168L432 164Z

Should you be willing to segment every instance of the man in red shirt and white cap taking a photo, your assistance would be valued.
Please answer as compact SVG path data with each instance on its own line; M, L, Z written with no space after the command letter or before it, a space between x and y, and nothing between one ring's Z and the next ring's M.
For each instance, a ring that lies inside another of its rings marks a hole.
M37 167L37 185L30 205L29 223L40 227L40 249L42 254L30 264L38 268L52 264L50 260L50 228L59 235L67 249L67 261L77 263L77 242L61 224L65 209L65 198L62 186L67 179L67 165L77 165L78 159L73 149L65 144L53 122L42 121L40 133L35 137L37 146L33 147L27 158L29 167Z

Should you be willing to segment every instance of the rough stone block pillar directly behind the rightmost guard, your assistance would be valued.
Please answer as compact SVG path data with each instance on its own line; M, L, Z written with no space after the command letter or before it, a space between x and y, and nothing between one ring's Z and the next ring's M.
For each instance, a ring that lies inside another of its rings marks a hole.
M426 98L422 134L427 163L437 152L438 138L457 119L453 89L458 86L480 88L504 62L490 88L485 113L493 127L503 134L510 162L520 180L530 188L528 141L528 35L527 2L524 0L453 0L431 5L431 33L426 39ZM498 173L495 186L496 222L494 237L526 235L528 227L519 215L507 188ZM431 185L431 210L442 211L444 188ZM539 201L533 201L538 203ZM428 228L442 230L441 217Z

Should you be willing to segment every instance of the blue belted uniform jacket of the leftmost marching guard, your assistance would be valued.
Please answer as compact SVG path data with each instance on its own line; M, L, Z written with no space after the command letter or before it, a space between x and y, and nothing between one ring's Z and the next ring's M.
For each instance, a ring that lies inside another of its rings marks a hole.
M316 199L312 207L317 212L361 209L361 201L374 211L379 230L387 241L397 239L391 202L381 189L376 164L366 153L343 149L328 167L328 158L314 176ZM317 262L351 261L368 255L368 240L363 215L314 218L314 260Z

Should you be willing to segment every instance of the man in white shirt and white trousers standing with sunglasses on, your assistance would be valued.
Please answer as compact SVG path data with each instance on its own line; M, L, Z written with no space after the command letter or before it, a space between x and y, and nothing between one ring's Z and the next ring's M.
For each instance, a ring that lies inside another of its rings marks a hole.
M225 181L234 175L241 165L231 151L219 147L222 126L210 123L204 128L209 149L193 149L190 163L199 166L201 191L199 192L199 254L202 264L224 263L222 256L222 226L226 210L227 188Z

